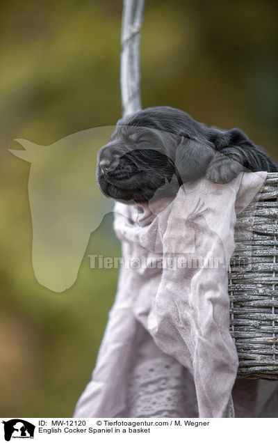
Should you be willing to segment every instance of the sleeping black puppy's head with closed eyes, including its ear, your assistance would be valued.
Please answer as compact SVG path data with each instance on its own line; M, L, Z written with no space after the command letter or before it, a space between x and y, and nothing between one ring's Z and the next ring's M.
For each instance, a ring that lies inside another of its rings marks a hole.
M152 107L118 121L98 156L101 191L125 203L174 196L203 176L213 157L208 128L170 107Z

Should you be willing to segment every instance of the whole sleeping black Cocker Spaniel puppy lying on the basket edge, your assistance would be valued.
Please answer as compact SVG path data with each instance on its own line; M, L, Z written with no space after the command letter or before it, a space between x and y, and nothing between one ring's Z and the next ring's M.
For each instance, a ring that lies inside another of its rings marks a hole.
M208 127L161 106L117 122L99 151L97 181L106 196L142 203L174 194L189 180L227 183L241 171L278 171L278 164L237 128Z

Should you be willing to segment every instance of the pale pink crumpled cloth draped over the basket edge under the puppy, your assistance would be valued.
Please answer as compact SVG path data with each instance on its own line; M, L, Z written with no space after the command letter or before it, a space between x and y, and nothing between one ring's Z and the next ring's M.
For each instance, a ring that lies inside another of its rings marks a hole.
M229 334L227 269L236 214L266 175L241 173L226 185L201 178L182 185L172 201L115 204L115 232L130 260L122 264L92 381L74 417L129 417L126 380L139 364L138 325L162 359L189 371L199 417L233 417L238 357Z

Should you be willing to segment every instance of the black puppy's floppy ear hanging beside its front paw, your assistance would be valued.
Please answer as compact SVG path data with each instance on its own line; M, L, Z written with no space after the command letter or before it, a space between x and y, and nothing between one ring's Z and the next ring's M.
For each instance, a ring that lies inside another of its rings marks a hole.
M175 155L175 166L183 183L206 175L215 155L213 143L197 137L181 137Z

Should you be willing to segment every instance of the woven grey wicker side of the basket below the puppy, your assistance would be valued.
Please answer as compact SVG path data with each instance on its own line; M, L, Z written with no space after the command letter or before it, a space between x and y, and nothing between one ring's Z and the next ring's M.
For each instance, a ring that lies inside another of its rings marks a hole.
M278 380L278 173L237 219L229 270L239 378Z

